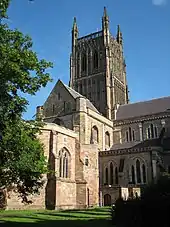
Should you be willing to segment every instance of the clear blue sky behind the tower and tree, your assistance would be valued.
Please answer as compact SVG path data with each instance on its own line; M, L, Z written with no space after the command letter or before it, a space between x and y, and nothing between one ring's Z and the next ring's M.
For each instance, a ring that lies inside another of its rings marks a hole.
M120 24L124 38L131 102L170 95L170 0L12 0L10 26L29 34L40 58L52 61L54 79L34 97L24 115L32 118L56 81L69 81L71 27L80 36L101 29L107 7L112 34Z

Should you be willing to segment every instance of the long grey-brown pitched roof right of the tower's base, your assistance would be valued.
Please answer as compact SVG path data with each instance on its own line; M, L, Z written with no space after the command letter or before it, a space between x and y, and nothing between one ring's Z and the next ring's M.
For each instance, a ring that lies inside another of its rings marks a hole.
M164 112L167 109L170 109L170 96L120 105L116 113L116 120L152 115Z

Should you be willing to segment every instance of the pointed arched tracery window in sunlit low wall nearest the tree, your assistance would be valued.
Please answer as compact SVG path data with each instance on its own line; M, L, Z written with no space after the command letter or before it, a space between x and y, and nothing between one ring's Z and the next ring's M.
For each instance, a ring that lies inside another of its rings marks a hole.
M59 177L69 177L69 153L65 148L59 152Z

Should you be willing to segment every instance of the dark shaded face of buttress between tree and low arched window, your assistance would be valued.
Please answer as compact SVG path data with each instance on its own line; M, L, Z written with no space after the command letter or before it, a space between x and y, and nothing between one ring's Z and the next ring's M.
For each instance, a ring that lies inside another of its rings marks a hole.
M48 210L54 210L56 207L56 176L55 176L55 156L53 154L53 132L50 133L49 159L47 174L47 184L45 188L45 206Z

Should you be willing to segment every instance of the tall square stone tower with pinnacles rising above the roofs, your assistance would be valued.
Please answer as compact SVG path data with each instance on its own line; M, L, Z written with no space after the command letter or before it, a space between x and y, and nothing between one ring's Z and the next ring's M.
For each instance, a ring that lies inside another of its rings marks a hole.
M79 37L74 18L69 86L109 119L115 118L117 104L128 103L122 33L118 26L116 37L111 35L105 7L102 30L87 36Z

